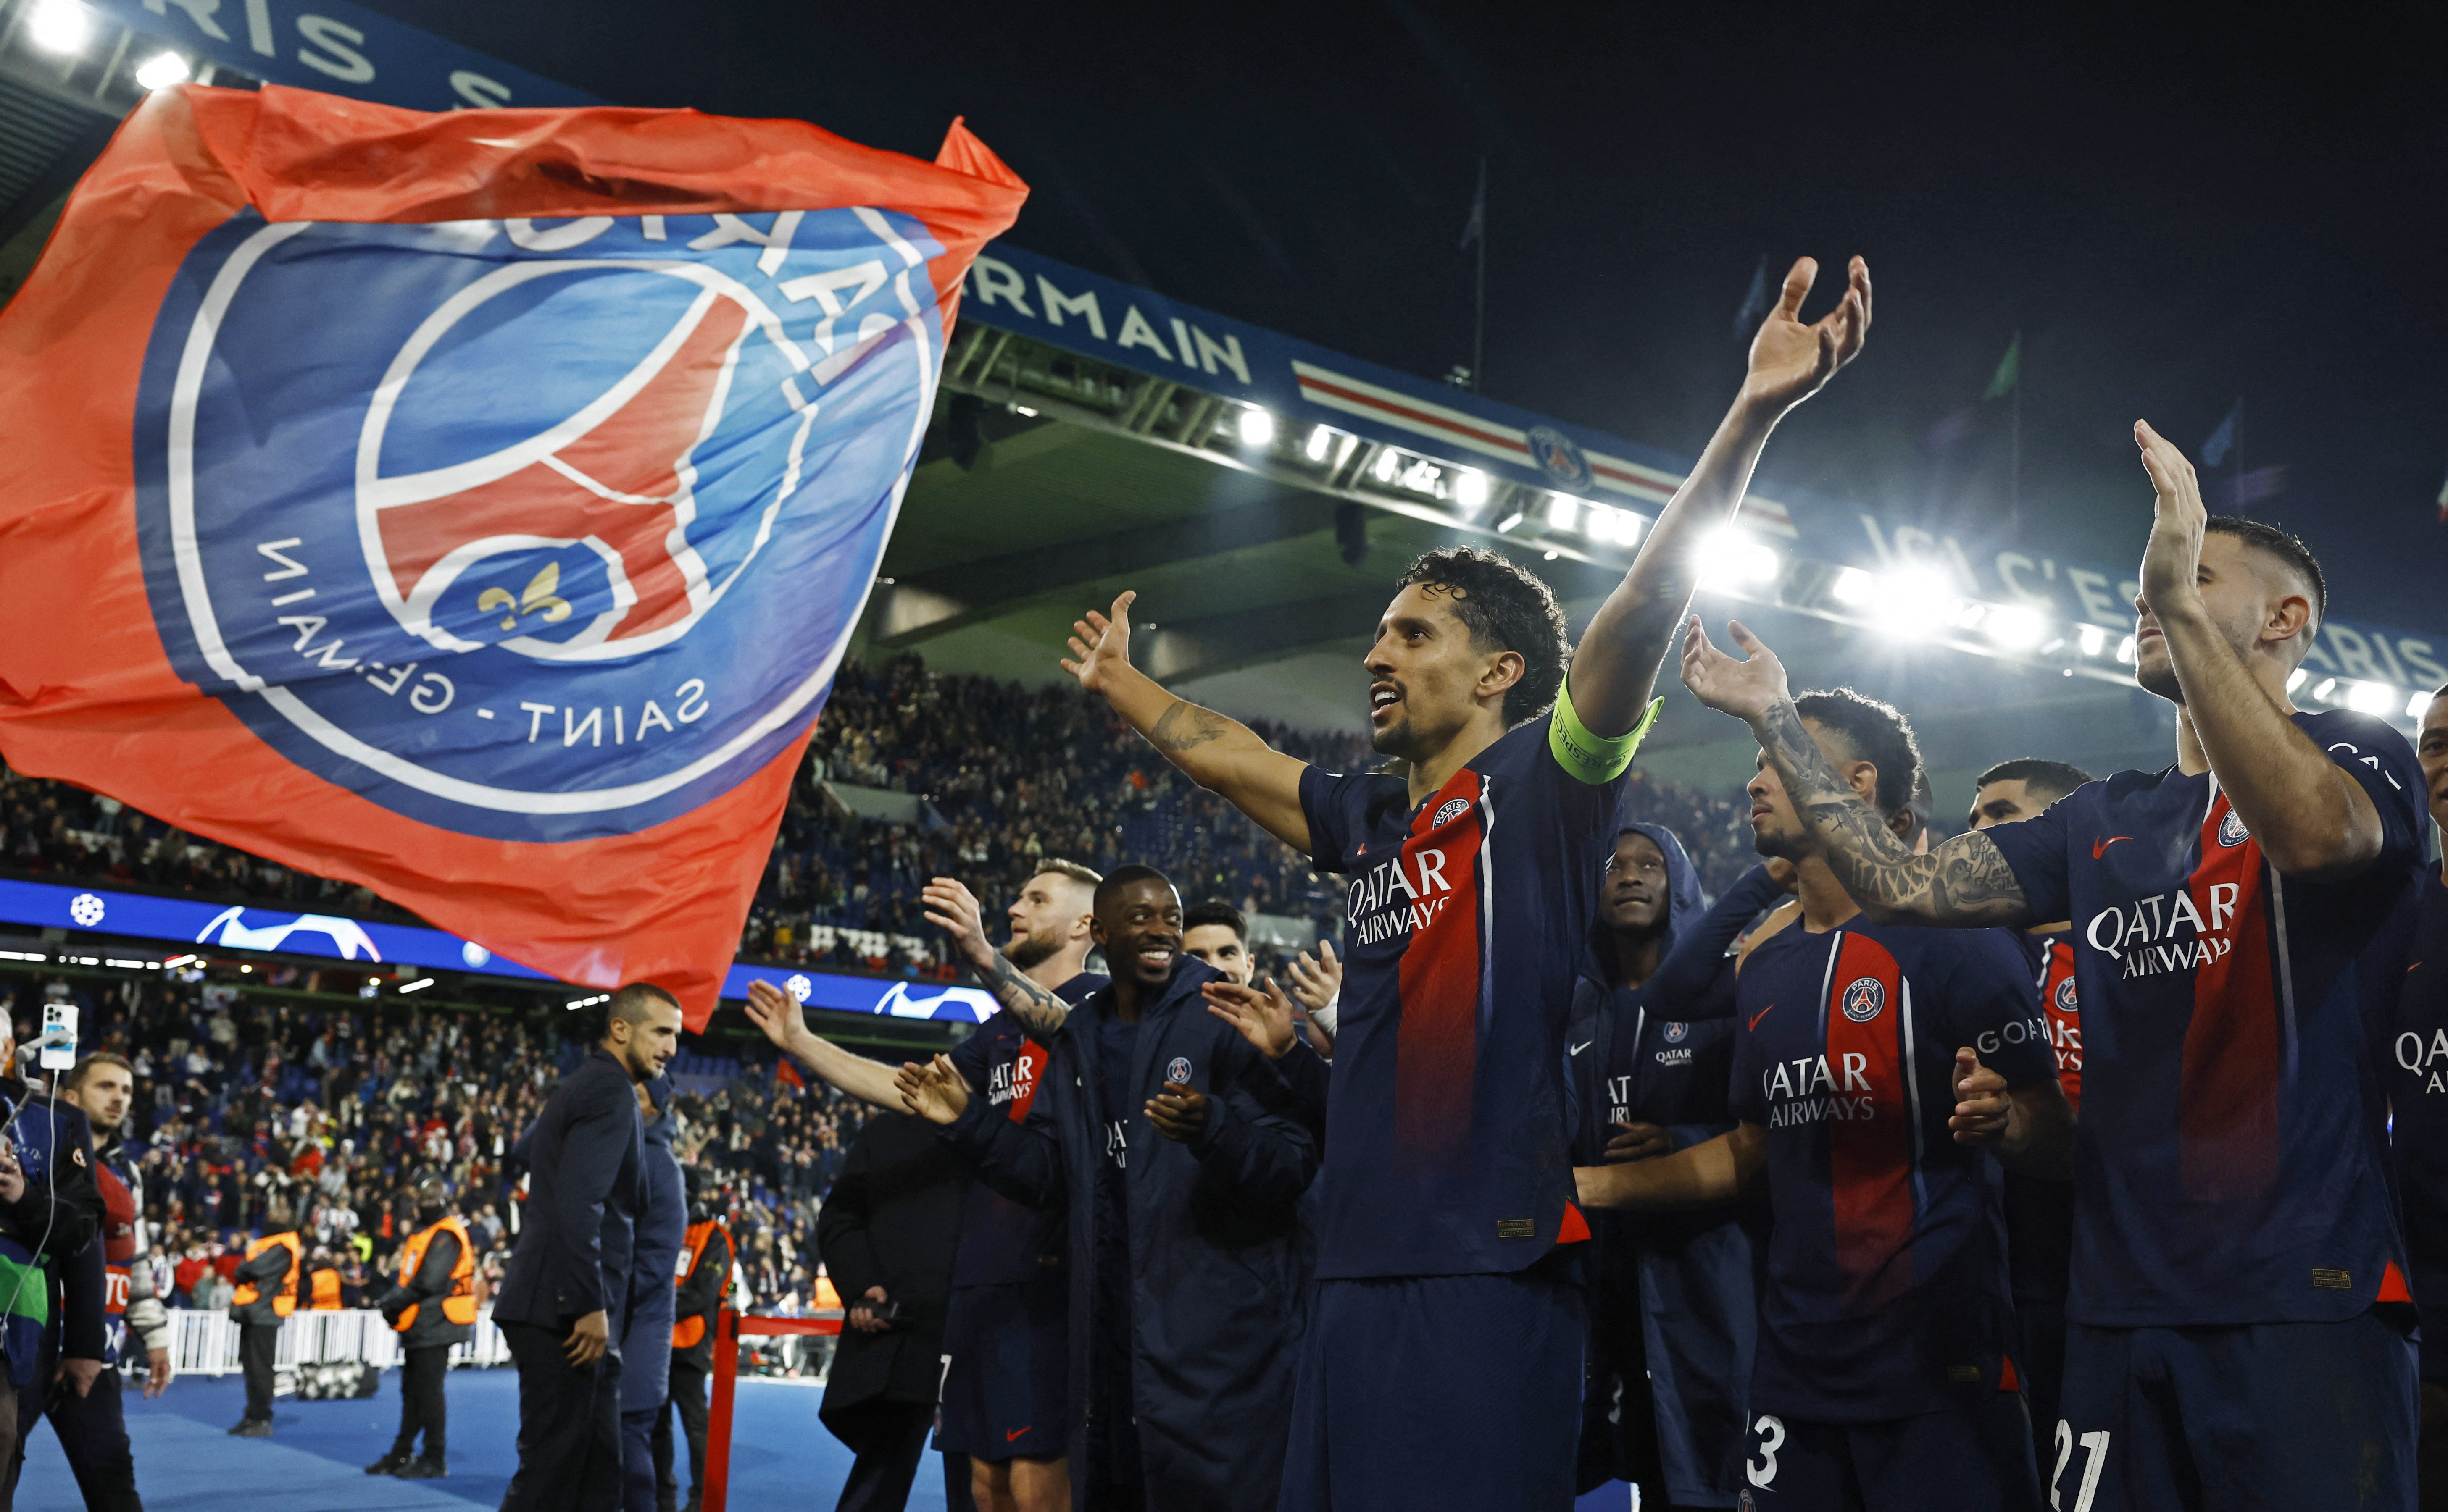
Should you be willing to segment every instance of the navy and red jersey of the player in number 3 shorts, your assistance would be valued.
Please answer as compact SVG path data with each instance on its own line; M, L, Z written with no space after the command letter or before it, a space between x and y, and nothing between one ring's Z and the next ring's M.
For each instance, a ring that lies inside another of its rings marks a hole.
M2056 1074L2002 930L1856 920L1743 962L1728 1106L1767 1130L1767 1284L1753 1412L1880 1421L1998 1387L2012 1341L1990 1157L1958 1145L1956 1047L2007 1086Z

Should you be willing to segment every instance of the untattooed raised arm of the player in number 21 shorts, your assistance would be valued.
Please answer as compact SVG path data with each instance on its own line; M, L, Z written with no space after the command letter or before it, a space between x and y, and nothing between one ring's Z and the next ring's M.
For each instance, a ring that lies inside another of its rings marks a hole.
M2184 712L2235 815L2282 876L2345 878L2379 859L2387 832L2372 795L2313 744L2252 675L2201 602L2201 536L2208 509L2193 465L2135 421L2142 470L2159 499L2142 548L2142 602L2166 636ZM2294 612L2308 599L2286 599ZM2289 626L2296 629L2299 626Z

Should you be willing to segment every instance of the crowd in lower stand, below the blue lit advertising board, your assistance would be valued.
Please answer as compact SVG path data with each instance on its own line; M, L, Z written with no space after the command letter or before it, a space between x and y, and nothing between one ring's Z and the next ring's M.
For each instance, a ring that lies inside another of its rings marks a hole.
M333 1258L340 1302L357 1306L384 1289L414 1233L411 1189L426 1172L446 1174L480 1272L499 1280L521 1211L517 1138L585 1052L563 1025L330 1008L282 993L326 986L284 964L259 976L272 991L186 976L76 991L86 1050L135 1064L127 1138L144 1172L147 1260L171 1306L228 1306L245 1240L291 1226ZM32 1032L39 993L0 986L0 1010ZM717 1177L754 1304L808 1306L815 1209L864 1108L776 1081L771 1062L703 1050L676 1062L673 1081L676 1150Z

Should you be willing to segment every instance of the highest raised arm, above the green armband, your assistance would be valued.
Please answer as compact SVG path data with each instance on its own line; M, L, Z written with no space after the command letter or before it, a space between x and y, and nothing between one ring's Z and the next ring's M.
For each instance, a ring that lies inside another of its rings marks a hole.
M1606 595L1581 636L1569 673L1572 707L1596 736L1621 736L1640 724L1674 626L1699 587L1701 543L1733 519L1767 433L1836 377L1870 335L1870 267L1856 257L1843 298L1804 325L1802 298L1816 279L1819 262L1812 257L1785 274L1785 296L1750 340L1750 372L1733 409L1650 526L1633 570Z

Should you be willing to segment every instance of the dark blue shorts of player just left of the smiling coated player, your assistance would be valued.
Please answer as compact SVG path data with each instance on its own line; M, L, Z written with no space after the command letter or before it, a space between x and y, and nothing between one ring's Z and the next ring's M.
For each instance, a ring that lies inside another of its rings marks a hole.
M935 1446L974 1461L1058 1458L1067 1434L1070 1336L1062 1272L952 1287L945 1314L942 1429Z

